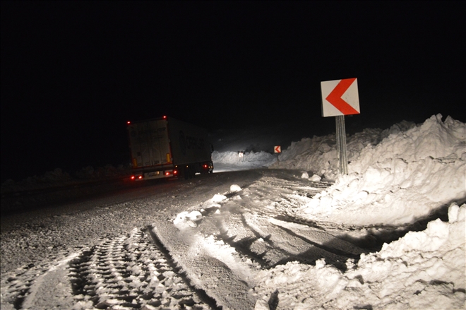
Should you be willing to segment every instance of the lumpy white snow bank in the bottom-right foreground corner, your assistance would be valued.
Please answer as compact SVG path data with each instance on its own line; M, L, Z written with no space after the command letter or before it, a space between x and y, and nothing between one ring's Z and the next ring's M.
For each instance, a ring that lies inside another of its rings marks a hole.
M262 270L256 294L278 292L280 309L464 309L466 205L450 205L449 222L429 222L380 252L347 261L342 273L323 259Z

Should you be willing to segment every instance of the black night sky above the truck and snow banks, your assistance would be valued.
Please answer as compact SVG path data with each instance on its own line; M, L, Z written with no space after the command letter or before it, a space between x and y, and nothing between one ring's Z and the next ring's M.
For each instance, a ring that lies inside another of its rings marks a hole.
M358 78L354 129L466 121L464 2L1 1L1 181L129 162L125 123L334 131L320 82Z

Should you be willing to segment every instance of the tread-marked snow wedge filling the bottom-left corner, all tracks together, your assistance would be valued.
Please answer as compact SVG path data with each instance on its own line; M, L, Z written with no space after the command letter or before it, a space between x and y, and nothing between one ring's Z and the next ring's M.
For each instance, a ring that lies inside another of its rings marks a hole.
M147 229L30 266L2 283L1 294L2 309L217 309Z

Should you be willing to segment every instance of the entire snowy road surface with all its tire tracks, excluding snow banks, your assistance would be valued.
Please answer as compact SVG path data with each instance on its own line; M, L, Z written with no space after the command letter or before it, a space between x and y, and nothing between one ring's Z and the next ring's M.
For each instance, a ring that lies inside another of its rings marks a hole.
M2 216L1 309L254 309L259 271L368 252L292 215L329 185L256 169Z

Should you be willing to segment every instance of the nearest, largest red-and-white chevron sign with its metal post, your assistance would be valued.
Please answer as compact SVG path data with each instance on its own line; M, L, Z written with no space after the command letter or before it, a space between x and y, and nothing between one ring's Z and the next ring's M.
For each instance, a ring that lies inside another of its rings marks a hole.
M348 174L345 115L359 114L356 78L321 82L322 116L335 117L338 173Z

